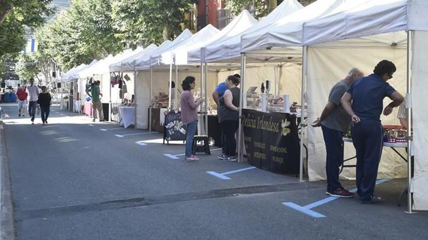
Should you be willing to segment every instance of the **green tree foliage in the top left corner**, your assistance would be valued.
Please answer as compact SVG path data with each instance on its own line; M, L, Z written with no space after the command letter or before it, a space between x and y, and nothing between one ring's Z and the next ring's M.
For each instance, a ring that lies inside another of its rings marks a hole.
M52 0L0 0L0 56L16 53L25 46L25 28L44 22L53 9Z

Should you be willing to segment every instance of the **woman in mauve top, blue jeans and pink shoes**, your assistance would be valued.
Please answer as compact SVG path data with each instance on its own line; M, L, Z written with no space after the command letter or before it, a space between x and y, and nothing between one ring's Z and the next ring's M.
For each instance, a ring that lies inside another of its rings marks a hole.
M191 90L195 89L195 77L187 76L181 84L181 121L187 126L185 158L188 161L199 160L192 154L193 137L195 136L197 124L197 107L202 103L202 98L195 99Z

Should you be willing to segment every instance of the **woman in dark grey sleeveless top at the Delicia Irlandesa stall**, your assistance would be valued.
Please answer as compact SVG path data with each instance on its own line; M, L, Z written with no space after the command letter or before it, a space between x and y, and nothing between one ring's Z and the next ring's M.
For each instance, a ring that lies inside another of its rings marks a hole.
M223 160L236 161L235 150L236 140L235 132L239 125L239 99L240 89L239 79L234 76L229 76L226 80L226 88L224 95L219 99L218 106L218 123L223 132L224 142L222 146L224 149Z

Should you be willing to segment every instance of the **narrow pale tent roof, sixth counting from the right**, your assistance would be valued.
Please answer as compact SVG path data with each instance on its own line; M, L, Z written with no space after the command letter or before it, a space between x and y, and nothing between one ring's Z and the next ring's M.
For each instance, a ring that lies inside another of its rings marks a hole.
M135 60L135 70L144 70L144 69L150 68L150 66L152 64L155 65L156 63L151 62L152 61L151 56L153 56L153 57L159 56L159 54L161 54L164 50L171 49L173 46L177 46L182 41L189 39L192 35L193 34L192 34L192 32L190 32L190 30L185 29L183 32L181 32L180 35L178 35L178 37L176 39L174 39L174 41L171 42L171 41L167 40L167 41L163 42L159 46L159 48L156 49L156 51L152 52L150 55L144 55L144 56L141 56L140 58L136 59Z

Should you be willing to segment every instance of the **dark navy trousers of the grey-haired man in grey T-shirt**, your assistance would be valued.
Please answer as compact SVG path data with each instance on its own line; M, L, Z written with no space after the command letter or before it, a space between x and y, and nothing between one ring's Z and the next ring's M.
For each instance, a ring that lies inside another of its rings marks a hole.
M321 126L324 136L327 159L325 170L327 173L327 192L340 188L339 167L343 162L343 132Z

